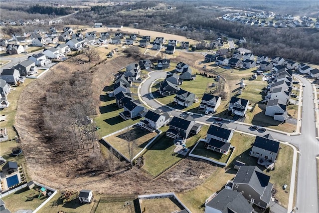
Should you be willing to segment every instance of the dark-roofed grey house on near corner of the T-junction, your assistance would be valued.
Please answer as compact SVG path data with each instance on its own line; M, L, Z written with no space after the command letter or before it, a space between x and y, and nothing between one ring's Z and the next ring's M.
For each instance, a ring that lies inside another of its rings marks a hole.
M250 156L275 162L279 152L279 142L270 138L256 136Z

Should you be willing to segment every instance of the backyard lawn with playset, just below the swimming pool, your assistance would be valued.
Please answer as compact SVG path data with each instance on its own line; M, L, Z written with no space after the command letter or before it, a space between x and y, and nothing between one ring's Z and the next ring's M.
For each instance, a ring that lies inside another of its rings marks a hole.
M32 201L27 201L28 195L33 194L38 195L39 193L34 189L28 189L27 187L16 191L8 196L2 198L3 202L5 203L5 207L10 210L12 213L24 209L24 210L35 210L38 206L40 206L45 199L38 199L35 198Z

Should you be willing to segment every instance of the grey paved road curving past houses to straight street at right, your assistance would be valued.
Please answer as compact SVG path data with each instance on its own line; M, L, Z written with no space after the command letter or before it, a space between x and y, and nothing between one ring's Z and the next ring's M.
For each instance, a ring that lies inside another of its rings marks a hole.
M143 98L143 102L155 109L162 109L167 111L170 115L179 116L182 112L179 110L170 109L166 106L162 106L160 103L154 100L150 95L149 88L152 82L159 78L165 78L166 72L155 71L150 73L150 78L146 79L141 88L140 95ZM317 213L318 209L318 182L317 182L317 162L316 156L319 154L319 142L316 139L316 123L315 123L315 109L313 100L313 90L311 83L302 77L298 77L303 84L305 84L303 95L303 111L302 111L302 131L300 135L287 136L285 133L278 131L267 130L266 132L258 132L251 130L249 124L242 124L238 122L227 122L227 126L238 131L254 134L265 135L271 133L273 138L282 141L289 142L299 148L300 158L298 167L298 184L297 184L297 212L300 213ZM193 115L193 118L199 122L205 122L212 124L216 122L211 116ZM291 212L294 207L292 202L288 212Z

